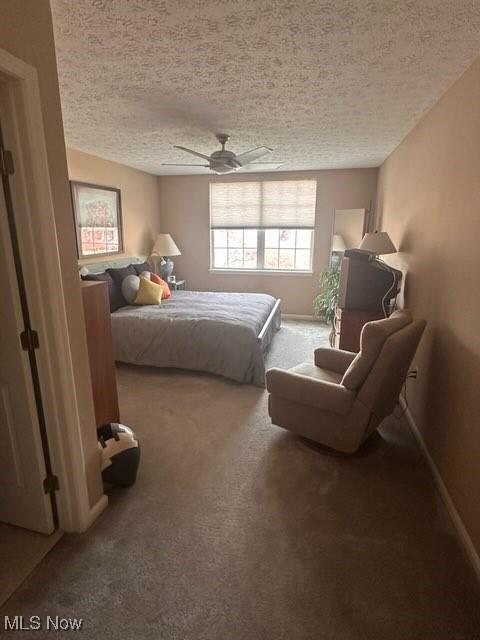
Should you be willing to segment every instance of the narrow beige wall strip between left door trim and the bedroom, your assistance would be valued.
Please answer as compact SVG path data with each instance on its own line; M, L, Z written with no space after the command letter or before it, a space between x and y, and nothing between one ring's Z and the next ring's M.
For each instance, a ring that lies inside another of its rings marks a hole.
M103 492L98 471L97 438L90 370L78 279L74 227L68 187L65 141L58 92L52 19L48 0L2 0L0 47L38 71L50 182L65 291L74 374L84 433L89 496L94 504Z

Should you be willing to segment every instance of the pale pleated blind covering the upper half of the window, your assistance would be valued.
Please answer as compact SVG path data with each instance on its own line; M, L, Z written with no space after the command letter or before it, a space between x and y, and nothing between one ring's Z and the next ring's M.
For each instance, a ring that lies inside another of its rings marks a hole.
M313 229L316 180L210 183L212 229Z

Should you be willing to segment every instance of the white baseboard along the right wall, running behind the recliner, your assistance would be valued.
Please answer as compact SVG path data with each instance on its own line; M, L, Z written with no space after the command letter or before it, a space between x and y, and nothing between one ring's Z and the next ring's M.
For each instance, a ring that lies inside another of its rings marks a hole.
M422 453L428 462L428 466L430 467L430 471L432 472L433 479L435 481L435 484L437 485L437 489L440 492L440 495L442 497L443 502L445 503L445 506L447 507L447 511L450 515L450 518L452 519L453 526L455 527L455 531L457 532L457 535L460 539L460 542L465 551L465 554L468 560L470 561L470 563L472 564L473 570L478 580L480 581L480 556L478 555L477 550L473 545L472 539L468 535L468 531L465 529L465 525L463 524L462 519L460 518L460 515L455 507L455 504L450 494L448 493L448 489L442 480L442 476L440 475L440 472L437 469L437 465L433 461L433 458L427 449L427 446L422 437L422 434L420 433L420 430L418 429L415 423L415 420L413 419L413 416L410 413L410 410L408 409L405 403L405 400L403 398L400 398L400 405L404 410L405 417L408 422L408 426L412 430L412 433L415 436L415 439L417 440L420 446L420 449L422 450Z

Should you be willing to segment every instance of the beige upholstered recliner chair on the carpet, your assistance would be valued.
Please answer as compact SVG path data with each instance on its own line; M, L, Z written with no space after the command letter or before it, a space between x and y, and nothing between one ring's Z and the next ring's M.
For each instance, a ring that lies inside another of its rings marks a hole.
M320 348L315 364L267 371L268 408L279 427L355 452L392 413L425 322L409 311L368 322L360 353Z

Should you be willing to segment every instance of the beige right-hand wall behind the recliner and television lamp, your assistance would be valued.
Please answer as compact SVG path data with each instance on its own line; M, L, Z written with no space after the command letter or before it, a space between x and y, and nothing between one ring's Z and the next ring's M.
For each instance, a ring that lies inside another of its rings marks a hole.
M381 227L428 320L408 400L480 552L480 58L383 164Z

